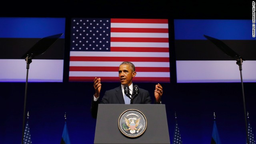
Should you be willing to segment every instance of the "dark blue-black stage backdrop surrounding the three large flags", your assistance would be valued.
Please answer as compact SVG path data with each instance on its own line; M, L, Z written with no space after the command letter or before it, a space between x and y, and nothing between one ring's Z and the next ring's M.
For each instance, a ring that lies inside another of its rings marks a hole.
M34 144L60 143L64 114L72 144L94 142L96 119L90 116L92 82L68 82L70 20L83 18L164 18L169 20L171 82L163 83L170 141L176 112L183 144L209 144L213 113L223 144L244 144L246 130L241 83L176 83L174 19L252 19L252 1L35 1L6 2L3 17L66 18L64 81L28 83L27 111ZM33 62L31 63L33 64ZM235 62L234 62L235 64ZM25 67L24 67L25 68ZM237 69L239 75L239 69ZM118 75L117 75L118 76ZM93 81L93 80L92 80ZM154 97L155 83L136 83ZM102 83L105 90L120 83ZM246 110L256 131L256 83L244 83ZM25 83L0 83L0 143L18 144L22 138Z

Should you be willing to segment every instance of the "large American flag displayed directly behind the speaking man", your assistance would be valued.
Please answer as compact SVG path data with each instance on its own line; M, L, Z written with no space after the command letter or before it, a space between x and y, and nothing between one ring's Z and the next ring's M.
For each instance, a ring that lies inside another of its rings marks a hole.
M70 34L70 82L118 82L124 61L134 82L170 82L168 19L72 18Z

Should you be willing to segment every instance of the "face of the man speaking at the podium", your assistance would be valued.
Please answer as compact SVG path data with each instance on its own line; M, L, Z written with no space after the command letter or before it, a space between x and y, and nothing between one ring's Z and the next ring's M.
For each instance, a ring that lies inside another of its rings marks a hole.
M132 78L136 76L136 72L132 72L128 64L122 64L119 66L119 80L122 85L132 84Z

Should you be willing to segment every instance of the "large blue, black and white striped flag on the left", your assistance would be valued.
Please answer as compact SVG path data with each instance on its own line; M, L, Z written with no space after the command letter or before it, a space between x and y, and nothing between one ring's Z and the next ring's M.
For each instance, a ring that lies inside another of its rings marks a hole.
M65 18L0 18L0 82L26 82L22 56L41 38L63 34L32 59L28 82L63 82Z

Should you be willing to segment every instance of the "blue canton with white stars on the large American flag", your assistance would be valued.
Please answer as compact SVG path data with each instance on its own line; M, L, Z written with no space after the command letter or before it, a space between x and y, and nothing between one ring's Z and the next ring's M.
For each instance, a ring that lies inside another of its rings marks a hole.
M110 18L73 18L70 51L110 52Z

